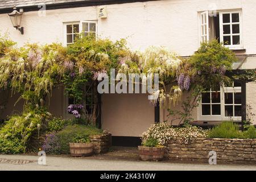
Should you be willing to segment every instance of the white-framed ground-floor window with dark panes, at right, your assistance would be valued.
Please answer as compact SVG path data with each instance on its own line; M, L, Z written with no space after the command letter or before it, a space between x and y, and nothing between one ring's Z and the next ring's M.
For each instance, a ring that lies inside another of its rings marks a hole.
M199 120L204 121L241 121L242 100L241 84L220 86L209 89L201 96L198 110Z

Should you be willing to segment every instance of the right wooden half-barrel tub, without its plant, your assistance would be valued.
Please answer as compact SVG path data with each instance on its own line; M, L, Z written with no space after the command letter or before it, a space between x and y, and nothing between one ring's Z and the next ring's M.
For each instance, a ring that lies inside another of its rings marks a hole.
M163 160L166 147L144 147L138 146L141 160Z

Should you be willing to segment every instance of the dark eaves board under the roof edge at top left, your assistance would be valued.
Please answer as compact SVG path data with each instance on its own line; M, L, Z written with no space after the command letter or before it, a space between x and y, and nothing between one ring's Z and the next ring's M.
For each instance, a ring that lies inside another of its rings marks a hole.
M133 2L147 2L147 1L160 1L160 0L92 0L92 1L75 1L75 2L65 2L65 3L53 3L46 4L46 10L56 10L56 9L68 9L75 7L86 7L86 6L101 6L101 5L114 5L114 4L123 4L123 3L133 3ZM38 4L40 5L40 4ZM40 7L38 5L32 6L18 6L18 8L22 8L24 12L28 11L38 11ZM13 11L13 7L0 9L0 14L6 14Z

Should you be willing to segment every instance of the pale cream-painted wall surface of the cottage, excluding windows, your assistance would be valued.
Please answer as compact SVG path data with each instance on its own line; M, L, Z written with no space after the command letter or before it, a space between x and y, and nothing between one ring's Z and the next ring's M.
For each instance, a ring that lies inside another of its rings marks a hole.
M7 14L0 14L0 32L1 34L8 32L10 37L18 42L18 46L23 46L27 42L40 44L63 43L63 23L97 20L99 36L112 40L127 38L131 49L143 51L148 46L166 46L180 56L189 56L197 50L200 44L198 12L209 10L212 3L217 6L217 10L242 9L243 45L246 54L255 54L255 0L166 0L108 5L108 18L106 19L97 19L96 6L47 10L44 17L38 16L38 11L25 12L22 17L24 35L20 35L20 32L12 27ZM248 85L247 100L251 102L256 113L255 94L256 86ZM105 96L103 100L109 101ZM154 110L145 101L144 108L148 108L148 110L144 110L142 113L142 115L147 116L144 121L143 118L140 118L142 120L140 123L133 118L125 117L125 124L119 126L120 122L116 120L123 118L122 112L127 114L127 108L123 111L119 110L120 116L113 119L116 115L115 110L109 110L109 107L117 104L114 100L113 98L113 104L108 102L109 106L102 105L103 126L112 131L113 135L139 136L142 131L150 126L150 123L154 123L154 114L152 113ZM60 101L57 103L60 103ZM63 104L57 107L65 108ZM118 108L121 107L118 106ZM129 113L132 113L131 108L129 107ZM150 112L148 112L149 110ZM57 113L61 113L61 111ZM166 111L162 110L160 114L162 120L166 119ZM150 118L148 118L149 115L151 115ZM194 118L197 119L196 115ZM256 123L256 121L254 122Z

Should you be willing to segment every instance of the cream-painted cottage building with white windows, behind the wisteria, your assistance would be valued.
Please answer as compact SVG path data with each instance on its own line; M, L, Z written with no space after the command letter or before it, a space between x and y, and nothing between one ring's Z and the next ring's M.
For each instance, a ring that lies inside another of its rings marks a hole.
M18 46L30 43L72 44L74 30L94 32L102 38L127 38L128 46L143 51L148 46L165 46L181 57L191 56L200 42L218 38L232 49L240 63L234 69L256 68L256 2L254 0L0 0L0 32L7 32ZM23 10L23 34L11 23L8 13L16 6ZM102 9L103 8L103 9ZM243 68L246 65L246 68ZM226 99L225 96L229 96ZM193 111L195 122L211 123L242 120L242 105L250 104L256 113L256 84L220 89L218 99L211 94ZM183 98L186 98L184 94ZM1 115L14 107L10 99ZM242 103L243 102L243 103ZM70 117L63 88L53 92L50 111ZM178 105L175 109L181 109ZM134 144L152 123L167 120L167 110L150 104L146 94L103 94L100 125L113 135L113 142ZM256 118L254 119L256 124ZM177 124L177 123L174 123Z

